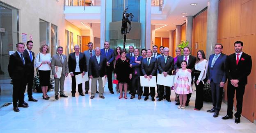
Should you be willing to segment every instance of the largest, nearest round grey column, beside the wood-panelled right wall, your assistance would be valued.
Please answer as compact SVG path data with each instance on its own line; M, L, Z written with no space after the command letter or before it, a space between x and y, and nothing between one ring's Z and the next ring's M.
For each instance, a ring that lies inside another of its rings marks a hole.
M219 0L208 0L206 59L214 53L213 46L217 43L218 10Z

